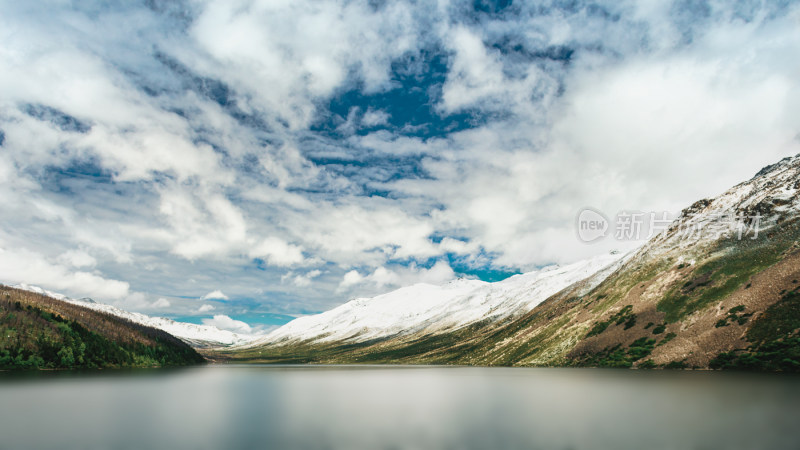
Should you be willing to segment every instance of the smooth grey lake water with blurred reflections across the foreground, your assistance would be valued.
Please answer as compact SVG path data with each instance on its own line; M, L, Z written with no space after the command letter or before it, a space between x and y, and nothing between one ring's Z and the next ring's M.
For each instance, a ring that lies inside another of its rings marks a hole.
M0 374L0 448L800 448L800 378L361 366Z

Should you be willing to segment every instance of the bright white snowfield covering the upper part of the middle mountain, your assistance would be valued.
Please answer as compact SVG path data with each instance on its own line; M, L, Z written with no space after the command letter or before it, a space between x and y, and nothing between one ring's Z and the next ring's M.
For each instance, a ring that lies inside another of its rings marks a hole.
M608 271L621 259L619 254L602 255L496 283L459 279L443 286L416 284L373 298L351 300L322 314L300 317L248 347L300 342L355 343L412 333L440 333L484 320L511 319L576 282Z

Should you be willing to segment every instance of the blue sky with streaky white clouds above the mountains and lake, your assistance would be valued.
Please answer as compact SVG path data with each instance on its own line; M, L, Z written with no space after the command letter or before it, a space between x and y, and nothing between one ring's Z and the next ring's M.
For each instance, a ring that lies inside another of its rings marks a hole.
M0 282L258 332L800 152L791 1L0 0Z

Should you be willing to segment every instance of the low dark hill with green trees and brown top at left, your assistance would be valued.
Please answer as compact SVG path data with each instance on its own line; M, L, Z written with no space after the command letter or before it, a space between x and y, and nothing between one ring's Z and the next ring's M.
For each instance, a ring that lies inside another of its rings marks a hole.
M172 335L0 286L0 369L161 367L204 362Z

